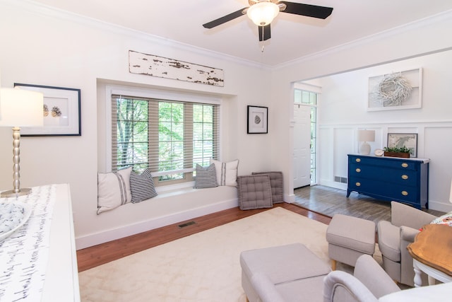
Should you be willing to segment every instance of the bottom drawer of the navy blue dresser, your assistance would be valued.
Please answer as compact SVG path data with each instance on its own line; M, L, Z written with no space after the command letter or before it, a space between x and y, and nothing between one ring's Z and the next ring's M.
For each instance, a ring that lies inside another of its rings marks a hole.
M405 185L391 184L378 180L367 180L364 178L350 178L348 187L352 191L361 194L371 193L378 194L387 199L403 200L415 203L419 199L418 187L409 187Z

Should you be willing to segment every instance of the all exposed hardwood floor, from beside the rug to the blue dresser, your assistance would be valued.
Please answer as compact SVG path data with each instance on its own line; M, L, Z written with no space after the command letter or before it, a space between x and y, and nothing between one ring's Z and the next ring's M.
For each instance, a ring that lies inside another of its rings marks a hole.
M391 204L389 202L380 202L371 197L356 193L352 193L347 198L345 194L344 190L333 189L331 187L303 187L295 190L295 204L275 204L275 207L283 207L284 209L294 211L295 213L326 224L331 221L331 216L337 213L369 219L375 222L391 219ZM85 269L117 260L135 252L141 252L142 250L153 248L157 245L205 231L215 226L221 226L222 224L266 210L242 211L238 207L227 209L189 221L181 221L170 226L78 250L78 271L82 272ZM441 212L438 211L426 211L436 216L441 215ZM189 224L189 226L183 228L179 227L184 223L191 223L192 221L194 221L194 224Z

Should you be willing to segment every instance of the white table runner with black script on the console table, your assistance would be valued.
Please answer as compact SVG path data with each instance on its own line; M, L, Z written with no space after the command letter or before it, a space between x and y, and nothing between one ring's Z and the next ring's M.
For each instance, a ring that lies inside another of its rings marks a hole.
M33 187L31 194L2 198L32 206L30 219L0 242L0 301L40 301L49 260L49 237L56 186Z

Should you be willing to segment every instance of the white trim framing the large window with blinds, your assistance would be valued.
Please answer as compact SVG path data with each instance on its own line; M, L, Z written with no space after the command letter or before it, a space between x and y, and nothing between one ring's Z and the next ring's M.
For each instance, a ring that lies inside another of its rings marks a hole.
M112 95L127 95L127 96L135 96L140 98L156 98L161 100L179 100L183 102L190 102L190 103L205 103L205 104L214 104L214 105L221 105L222 100L219 96L215 95L206 95L206 94L195 94L195 93L185 93L180 91L163 91L159 89L153 89L153 88L135 88L135 87L127 87L127 86L116 86L116 85L107 85L105 87L105 129L106 129L106 135L107 135L107 141L106 141L106 149L105 149L105 167L107 168L107 171L112 170L112 115L111 115L111 108L112 108ZM221 106L220 106L220 123L221 123ZM222 127L220 127L220 141L221 141L221 135L222 133ZM221 144L220 144L221 146ZM221 156L221 150L219 151L219 155ZM194 169L191 169L194 170ZM153 173L153 175L158 176L163 173ZM165 172L166 174L166 172ZM167 186L160 186L162 187L168 187L168 190L174 190L179 188L185 188L185 187L193 187L194 182L182 182L177 185L167 185ZM166 189L160 189L163 191L166 191Z

